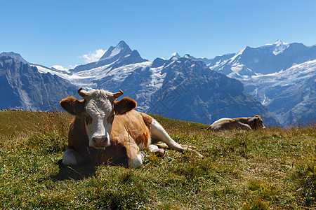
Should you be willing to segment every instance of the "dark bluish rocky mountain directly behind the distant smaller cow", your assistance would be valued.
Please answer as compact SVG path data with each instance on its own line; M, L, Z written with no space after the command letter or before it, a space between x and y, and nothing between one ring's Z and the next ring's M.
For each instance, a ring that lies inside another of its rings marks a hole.
M145 101L147 112L199 123L260 113L267 124L277 122L264 106L244 92L242 83L210 71L190 55L171 57L161 75L161 88Z

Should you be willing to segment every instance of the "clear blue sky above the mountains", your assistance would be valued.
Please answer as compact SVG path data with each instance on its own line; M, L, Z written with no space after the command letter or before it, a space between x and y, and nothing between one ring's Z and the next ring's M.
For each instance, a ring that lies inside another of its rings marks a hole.
M70 68L121 40L149 60L211 58L278 39L315 45L315 11L315 0L0 0L0 52Z

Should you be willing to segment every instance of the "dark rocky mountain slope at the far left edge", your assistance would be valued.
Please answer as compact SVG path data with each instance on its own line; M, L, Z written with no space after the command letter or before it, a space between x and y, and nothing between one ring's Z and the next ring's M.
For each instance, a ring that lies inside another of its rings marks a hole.
M51 102L53 106L76 90L68 80L51 73L39 73L37 67L17 53L0 54L1 109L48 109L41 104Z

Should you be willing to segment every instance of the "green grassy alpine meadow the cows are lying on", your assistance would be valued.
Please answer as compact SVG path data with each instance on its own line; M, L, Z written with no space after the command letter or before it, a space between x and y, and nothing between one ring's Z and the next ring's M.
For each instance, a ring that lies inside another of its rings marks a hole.
M226 131L154 116L192 153L65 167L71 117L0 112L0 209L315 209L316 127Z

